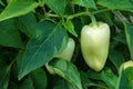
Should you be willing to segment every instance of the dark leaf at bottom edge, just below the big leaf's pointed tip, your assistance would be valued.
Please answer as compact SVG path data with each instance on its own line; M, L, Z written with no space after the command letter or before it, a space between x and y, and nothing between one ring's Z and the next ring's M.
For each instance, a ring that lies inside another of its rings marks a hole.
M19 86L19 89L35 89L35 88L33 87L32 79L29 77Z

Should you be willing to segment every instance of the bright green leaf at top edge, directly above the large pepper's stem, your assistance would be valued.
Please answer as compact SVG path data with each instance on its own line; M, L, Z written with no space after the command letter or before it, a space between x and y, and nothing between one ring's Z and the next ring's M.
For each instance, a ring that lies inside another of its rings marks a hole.
M94 0L72 0L74 4L96 9Z

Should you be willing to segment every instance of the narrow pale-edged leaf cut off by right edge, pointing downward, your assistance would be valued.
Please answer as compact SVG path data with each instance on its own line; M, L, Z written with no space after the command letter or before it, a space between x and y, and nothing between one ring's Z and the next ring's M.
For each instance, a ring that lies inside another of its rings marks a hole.
M130 55L133 60L133 26L124 23L126 43L129 46Z

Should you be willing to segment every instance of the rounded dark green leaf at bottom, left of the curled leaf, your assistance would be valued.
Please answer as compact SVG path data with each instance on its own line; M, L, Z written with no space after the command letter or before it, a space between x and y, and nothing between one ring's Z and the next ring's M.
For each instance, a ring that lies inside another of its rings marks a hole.
M38 69L30 73L35 89L47 89L47 75L44 70Z

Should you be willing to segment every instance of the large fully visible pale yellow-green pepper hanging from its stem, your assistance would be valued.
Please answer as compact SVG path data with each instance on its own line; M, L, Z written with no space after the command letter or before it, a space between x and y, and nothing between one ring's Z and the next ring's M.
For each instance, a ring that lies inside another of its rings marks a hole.
M104 22L90 23L81 30L81 51L86 65L95 70L103 69L110 44L110 27Z

